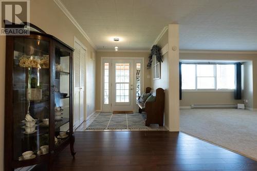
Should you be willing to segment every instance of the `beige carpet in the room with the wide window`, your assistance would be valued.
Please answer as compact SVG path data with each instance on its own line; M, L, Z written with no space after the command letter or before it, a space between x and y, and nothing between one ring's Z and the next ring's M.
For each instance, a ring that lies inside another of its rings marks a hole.
M257 111L180 109L180 130L257 160Z

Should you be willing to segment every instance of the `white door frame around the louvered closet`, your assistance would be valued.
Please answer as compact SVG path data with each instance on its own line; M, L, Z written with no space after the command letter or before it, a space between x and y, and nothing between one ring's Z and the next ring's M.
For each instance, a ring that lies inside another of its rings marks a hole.
M86 48L86 46L83 44L83 43L81 43L80 42L80 40L76 37L76 36L74 36L74 46L75 46L75 43L77 43L77 44L79 44L85 51L86 51L86 59L85 59L85 83L84 83L84 121L86 120L86 115L87 115L87 108L85 107L86 106L86 87L87 87L87 84L86 84L86 81L87 81L87 79L86 79L86 73L87 73L87 71L86 71L86 69L87 69L87 67L86 67L86 65L87 65L87 48ZM74 87L75 87L75 81L74 81L74 79L75 79L75 77L74 77L74 60L72 59L72 78L73 78L73 85L72 85L72 92L74 92ZM74 96L72 96L73 98L74 98ZM74 99L72 99L72 106L74 107ZM74 108L73 108L74 109ZM79 118L80 119L80 118Z

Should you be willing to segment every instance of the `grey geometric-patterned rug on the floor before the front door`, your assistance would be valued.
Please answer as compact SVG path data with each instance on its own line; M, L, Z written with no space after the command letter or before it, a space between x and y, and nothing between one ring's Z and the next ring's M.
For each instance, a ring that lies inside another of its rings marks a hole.
M144 117L140 113L124 113L123 115L116 115L113 113L101 112L86 130L148 129L148 127L145 126L143 118Z

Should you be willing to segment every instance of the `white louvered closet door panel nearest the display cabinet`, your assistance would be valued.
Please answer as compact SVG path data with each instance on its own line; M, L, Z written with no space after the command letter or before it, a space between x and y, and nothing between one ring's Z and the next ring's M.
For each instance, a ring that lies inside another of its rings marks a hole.
M74 129L80 125L80 54L81 46L74 45Z

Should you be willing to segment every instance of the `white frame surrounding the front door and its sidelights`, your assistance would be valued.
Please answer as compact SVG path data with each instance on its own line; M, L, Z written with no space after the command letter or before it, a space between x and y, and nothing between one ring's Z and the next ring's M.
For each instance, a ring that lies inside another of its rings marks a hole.
M136 60L141 60L142 61L142 69L141 69L141 92L144 91L144 58L143 57L106 57L106 56L101 56L101 94L100 94L100 111L103 111L103 61L104 60L110 60L112 61L113 59L127 59L127 60L134 60L134 63ZM135 66L133 67L133 70L134 70ZM134 71L133 71L134 72ZM135 72L134 72L135 73ZM112 75L109 75L109 77L112 77ZM133 79L135 77L135 74L133 75ZM112 80L112 78L111 78ZM136 99L135 99L135 94L136 94L136 84L133 84L134 85L134 90L133 90L133 93L134 93L134 100L133 100L133 104L134 104L134 107L133 107L133 110L135 110L135 104L136 104ZM110 88L109 88L110 89ZM109 93L109 96L110 96L110 93ZM110 99L109 99L110 101ZM110 110L111 111L111 110Z

